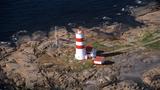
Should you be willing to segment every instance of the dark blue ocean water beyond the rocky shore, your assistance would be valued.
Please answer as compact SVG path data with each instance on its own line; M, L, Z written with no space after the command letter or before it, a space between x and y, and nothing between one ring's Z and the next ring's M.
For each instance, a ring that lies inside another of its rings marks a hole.
M47 31L57 26L95 26L151 0L0 0L0 41L17 31ZM130 8L131 7L131 8ZM123 21L123 20L120 20Z

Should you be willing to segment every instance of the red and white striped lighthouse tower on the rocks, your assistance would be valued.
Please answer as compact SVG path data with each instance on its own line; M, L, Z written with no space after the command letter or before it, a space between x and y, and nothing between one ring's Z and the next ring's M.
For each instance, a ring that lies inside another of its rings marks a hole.
M84 33L81 30L77 30L75 59L84 60L85 56L86 56L86 49L84 45Z

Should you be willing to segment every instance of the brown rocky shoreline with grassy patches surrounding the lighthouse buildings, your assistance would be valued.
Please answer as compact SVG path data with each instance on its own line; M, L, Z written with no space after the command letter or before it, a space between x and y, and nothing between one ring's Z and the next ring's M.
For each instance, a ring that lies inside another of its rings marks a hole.
M137 17L145 23L143 27L126 29L123 24L115 24L82 28L86 44L96 43L98 54L105 56L105 65L74 59L74 29L35 32L19 39L16 47L1 45L0 89L159 90L159 13L157 10Z

